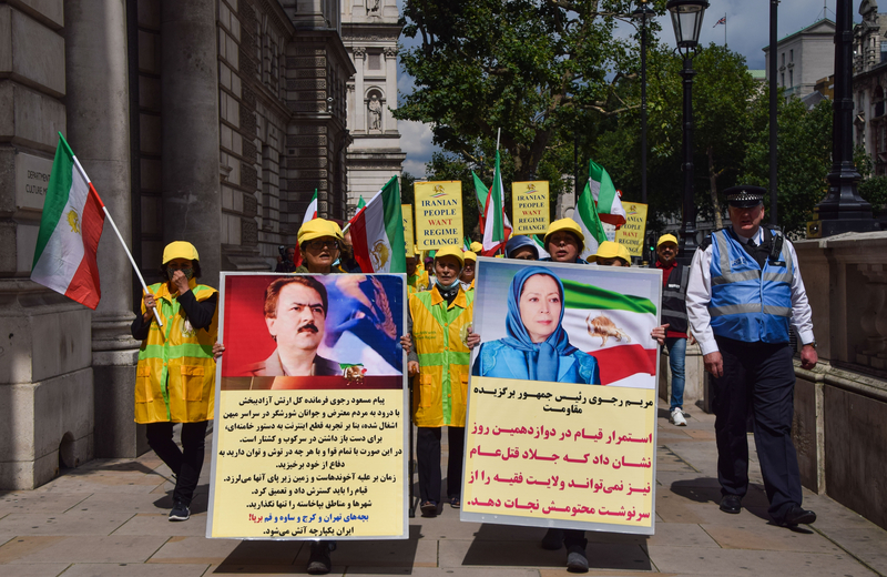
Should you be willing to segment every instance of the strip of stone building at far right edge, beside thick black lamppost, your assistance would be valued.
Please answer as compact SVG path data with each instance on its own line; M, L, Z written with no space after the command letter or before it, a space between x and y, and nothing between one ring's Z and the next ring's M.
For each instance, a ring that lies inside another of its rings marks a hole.
M861 23L854 27L854 139L869 154L875 174L887 174L887 14L878 13L878 3L864 0L859 6Z

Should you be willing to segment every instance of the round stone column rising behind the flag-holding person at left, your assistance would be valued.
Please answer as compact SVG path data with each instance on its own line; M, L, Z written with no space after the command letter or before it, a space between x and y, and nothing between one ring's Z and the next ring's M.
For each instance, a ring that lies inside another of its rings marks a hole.
M163 241L197 247L201 282L218 287L218 59L215 0L161 8ZM160 264L160 263L157 263Z

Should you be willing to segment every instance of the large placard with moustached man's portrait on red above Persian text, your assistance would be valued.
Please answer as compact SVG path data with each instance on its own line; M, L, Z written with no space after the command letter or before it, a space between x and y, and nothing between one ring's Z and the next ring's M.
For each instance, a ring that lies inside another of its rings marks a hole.
M407 538L405 276L221 284L206 536Z

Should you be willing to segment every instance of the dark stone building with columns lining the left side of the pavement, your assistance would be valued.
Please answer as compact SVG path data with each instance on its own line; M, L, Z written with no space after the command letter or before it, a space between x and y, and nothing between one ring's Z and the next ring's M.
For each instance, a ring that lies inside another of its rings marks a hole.
M109 224L95 312L28 280L58 132L145 281L194 243L202 282L268 270L315 189L345 217L339 0L0 0L0 488L146 447L141 290Z

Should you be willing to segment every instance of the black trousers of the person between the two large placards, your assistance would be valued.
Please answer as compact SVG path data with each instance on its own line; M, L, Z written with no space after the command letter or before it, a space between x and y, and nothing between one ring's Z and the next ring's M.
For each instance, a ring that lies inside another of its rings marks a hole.
M416 427L416 460L419 468L421 503L440 500L440 435L441 427ZM465 427L447 427L447 442L449 443L447 497L460 497Z

